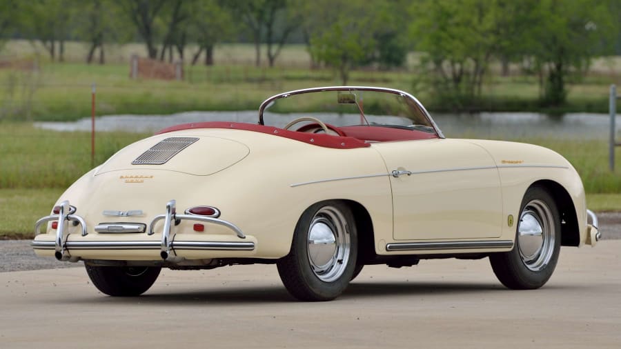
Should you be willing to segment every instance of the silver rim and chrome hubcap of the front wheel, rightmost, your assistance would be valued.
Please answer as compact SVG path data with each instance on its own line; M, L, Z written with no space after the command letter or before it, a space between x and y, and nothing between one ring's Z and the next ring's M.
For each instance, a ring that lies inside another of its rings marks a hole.
M538 272L549 263L555 245L555 224L550 208L541 200L530 201L520 215L517 247L524 266Z

